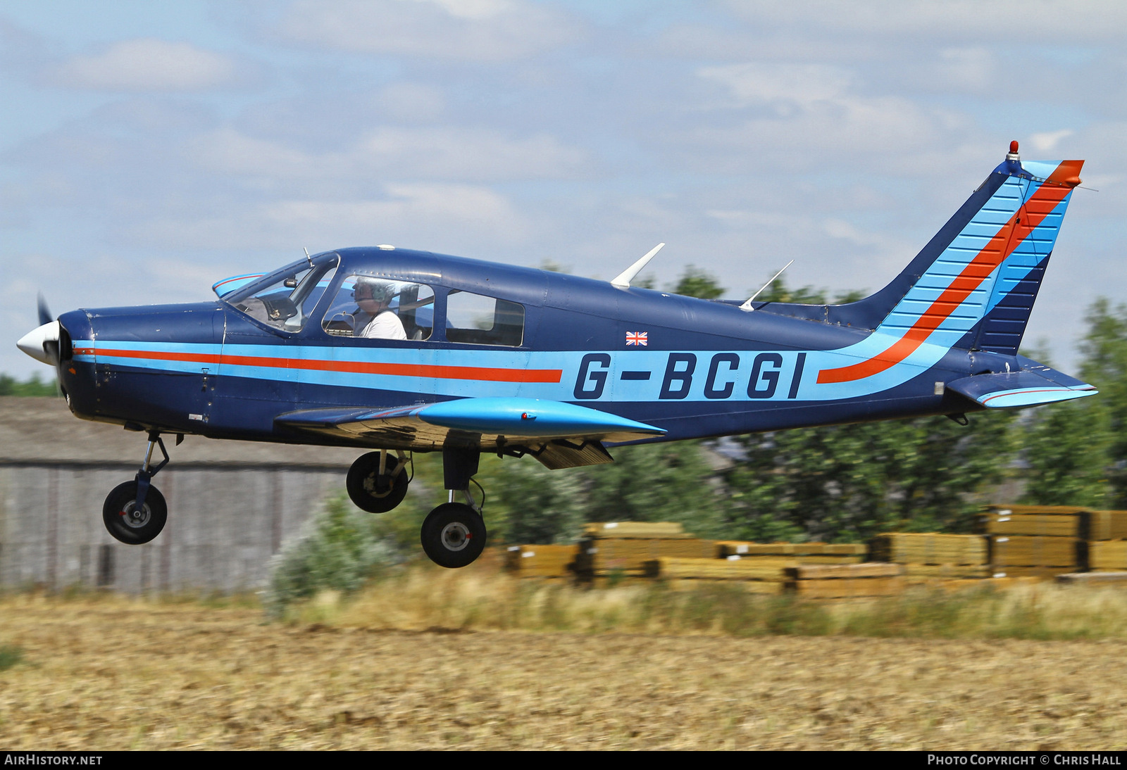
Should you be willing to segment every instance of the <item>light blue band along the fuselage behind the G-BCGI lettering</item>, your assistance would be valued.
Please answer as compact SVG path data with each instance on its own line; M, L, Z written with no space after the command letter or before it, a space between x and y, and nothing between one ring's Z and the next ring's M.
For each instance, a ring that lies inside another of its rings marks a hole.
M92 346L94 343L87 343ZM117 349L218 356L219 346L169 342L124 342L99 340L99 350ZM855 348L857 346L854 346ZM879 344L878 344L879 347ZM289 380L312 385L402 391L410 394L433 394L440 397L521 396L552 401L592 402L662 402L662 401L831 401L863 396L894 387L922 374L930 365L920 361L939 360L946 350L922 346L920 351L893 369L859 383L817 384L819 368L853 362L833 351L735 350L735 351L658 351L616 350L592 351L525 351L525 350L456 350L427 348L419 343L408 347L334 347L228 344L223 364L215 371L207 362L174 361L158 358L112 358L98 355L103 365L142 368L159 371L208 374L222 377L246 377L261 380ZM585 358L595 356L596 361ZM230 362L236 357L260 357L263 366ZM88 357L89 358L89 357ZM267 365L268 359L284 359L287 366ZM606 365L606 359L610 364ZM341 364L423 365L507 369L514 371L560 370L558 383L489 382L472 378L446 378L396 374L370 374L303 368L302 362L336 361ZM713 361L716 366L713 367ZM691 369L691 370L690 370ZM752 375L755 375L753 382ZM644 377L644 378L642 378ZM796 378L798 382L796 383ZM663 393L664 392L664 393Z

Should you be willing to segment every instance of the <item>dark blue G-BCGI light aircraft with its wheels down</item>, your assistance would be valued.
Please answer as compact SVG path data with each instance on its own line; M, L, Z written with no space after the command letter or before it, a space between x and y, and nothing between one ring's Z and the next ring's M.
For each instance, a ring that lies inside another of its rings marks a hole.
M326 251L215 285L215 302L77 310L19 347L71 411L148 433L103 510L148 543L167 507L162 433L371 449L352 500L389 511L409 456L441 451L447 501L421 544L481 553L481 453L549 468L607 446L1021 408L1095 393L1018 355L1083 161L1005 160L888 286L841 305L706 301L391 245ZM658 247L660 248L660 247ZM154 463L154 448L163 459ZM462 493L465 502L455 501Z

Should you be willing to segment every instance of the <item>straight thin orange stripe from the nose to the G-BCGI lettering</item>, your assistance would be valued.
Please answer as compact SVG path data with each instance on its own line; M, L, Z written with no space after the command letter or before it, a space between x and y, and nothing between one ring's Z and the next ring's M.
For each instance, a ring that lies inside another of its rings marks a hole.
M261 366L275 369L304 369L309 371L347 371L352 374L389 375L392 377L474 379L492 383L558 383L564 374L562 369L498 369L479 366L438 366L432 364L327 361L304 358L272 358L267 356L218 356L214 353L167 352L163 350L110 350L99 348L97 356L227 366Z

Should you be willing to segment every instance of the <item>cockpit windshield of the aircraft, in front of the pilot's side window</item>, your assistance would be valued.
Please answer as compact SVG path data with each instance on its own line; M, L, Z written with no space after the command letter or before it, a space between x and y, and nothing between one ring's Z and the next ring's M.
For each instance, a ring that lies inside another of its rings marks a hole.
M301 331L339 261L336 252L299 260L225 295L223 302L268 326Z

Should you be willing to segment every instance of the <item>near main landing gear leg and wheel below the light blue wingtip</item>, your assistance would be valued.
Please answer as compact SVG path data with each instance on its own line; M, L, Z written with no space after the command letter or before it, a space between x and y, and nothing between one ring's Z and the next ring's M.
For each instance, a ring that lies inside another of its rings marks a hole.
M479 457L477 449L442 450L444 485L450 494L445 503L427 514L419 537L423 550L440 566L471 564L486 547L481 505L470 494L470 480L478 472ZM461 492L467 502L454 502L455 492Z

